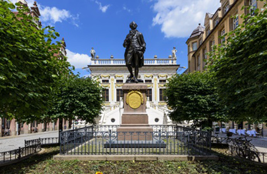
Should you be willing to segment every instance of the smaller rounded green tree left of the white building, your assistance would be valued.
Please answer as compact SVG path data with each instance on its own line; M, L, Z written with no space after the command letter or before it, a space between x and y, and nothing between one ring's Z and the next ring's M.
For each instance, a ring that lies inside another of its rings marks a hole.
M102 87L91 78L70 76L62 80L52 109L44 119L79 119L95 123L102 111Z

